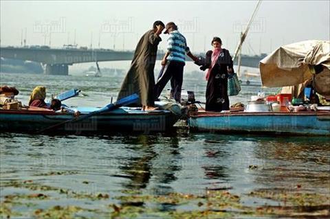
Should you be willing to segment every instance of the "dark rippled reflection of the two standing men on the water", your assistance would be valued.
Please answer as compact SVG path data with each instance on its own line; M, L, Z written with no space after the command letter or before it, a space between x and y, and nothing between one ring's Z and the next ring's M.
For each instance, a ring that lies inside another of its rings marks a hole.
M174 191L169 185L176 179L175 172L180 170L177 165L180 153L176 136L159 139L156 136L140 135L124 139L123 143L132 151L127 165L121 167L124 177L131 180L124 183L123 187L148 188L155 194Z

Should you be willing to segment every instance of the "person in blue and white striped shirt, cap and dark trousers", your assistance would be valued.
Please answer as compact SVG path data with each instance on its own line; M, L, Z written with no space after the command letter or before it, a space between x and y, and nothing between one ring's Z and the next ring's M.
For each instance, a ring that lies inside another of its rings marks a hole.
M155 84L155 100L158 99L168 80L170 80L170 97L173 97L177 102L181 102L186 54L194 61L197 61L198 58L191 54L186 38L177 30L177 25L174 22L166 24L164 34L170 36L167 40L167 51L162 60L163 68Z

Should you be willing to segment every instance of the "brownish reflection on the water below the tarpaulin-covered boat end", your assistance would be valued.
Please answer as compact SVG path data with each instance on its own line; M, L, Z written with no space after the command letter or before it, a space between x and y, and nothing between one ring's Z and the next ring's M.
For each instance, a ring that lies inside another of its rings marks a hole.
M330 194L329 145L328 137L261 141L254 154L267 163L256 181L263 187Z

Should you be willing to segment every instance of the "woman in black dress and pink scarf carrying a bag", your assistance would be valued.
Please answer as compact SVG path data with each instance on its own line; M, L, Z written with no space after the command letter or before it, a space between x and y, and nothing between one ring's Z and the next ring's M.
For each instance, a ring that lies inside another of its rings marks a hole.
M211 44L214 48L206 53L206 61L200 68L203 71L208 69L206 111L227 111L229 110L228 73L234 72L232 57L227 49L221 48L221 38L214 37Z

